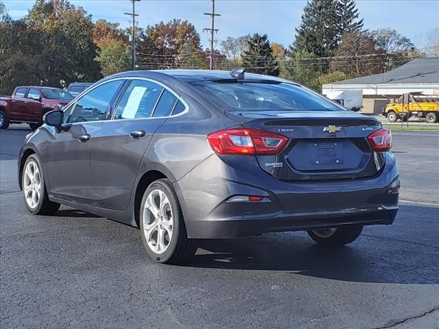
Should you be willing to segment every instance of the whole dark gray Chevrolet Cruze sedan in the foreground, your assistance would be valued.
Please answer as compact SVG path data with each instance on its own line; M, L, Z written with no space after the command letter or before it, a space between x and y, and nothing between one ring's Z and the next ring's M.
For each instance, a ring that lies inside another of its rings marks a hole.
M19 157L25 204L60 204L140 228L178 263L196 239L307 230L344 245L391 224L399 176L376 119L276 77L136 71L49 112Z

